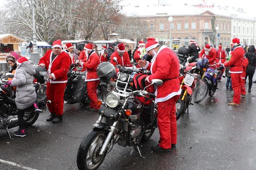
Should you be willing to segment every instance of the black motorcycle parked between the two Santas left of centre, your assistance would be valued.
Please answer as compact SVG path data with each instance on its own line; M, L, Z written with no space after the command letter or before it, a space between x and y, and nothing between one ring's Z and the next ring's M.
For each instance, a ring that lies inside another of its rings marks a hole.
M67 104L80 103L88 105L90 100L87 96L87 83L85 82L87 71L81 72L72 64L67 73L67 86L64 92L64 101Z

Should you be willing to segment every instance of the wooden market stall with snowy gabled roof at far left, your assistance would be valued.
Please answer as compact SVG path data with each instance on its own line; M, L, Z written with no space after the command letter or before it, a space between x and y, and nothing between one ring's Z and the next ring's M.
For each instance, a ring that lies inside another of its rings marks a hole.
M0 34L0 53L9 53L19 49L19 44L26 42L13 34Z

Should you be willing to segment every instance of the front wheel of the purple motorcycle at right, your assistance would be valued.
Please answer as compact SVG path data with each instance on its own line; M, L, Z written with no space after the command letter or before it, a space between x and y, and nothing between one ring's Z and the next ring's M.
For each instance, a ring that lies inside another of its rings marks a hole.
M193 99L196 103L200 103L206 98L208 94L208 85L206 83L199 82L199 85L195 88Z

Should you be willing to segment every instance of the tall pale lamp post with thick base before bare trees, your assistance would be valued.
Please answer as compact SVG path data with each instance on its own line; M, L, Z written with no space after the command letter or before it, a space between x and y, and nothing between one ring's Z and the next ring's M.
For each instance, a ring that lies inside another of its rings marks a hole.
M33 63L38 63L40 55L37 52L37 36L35 31L35 0L32 0L32 11L33 11L33 53L31 53L30 60Z

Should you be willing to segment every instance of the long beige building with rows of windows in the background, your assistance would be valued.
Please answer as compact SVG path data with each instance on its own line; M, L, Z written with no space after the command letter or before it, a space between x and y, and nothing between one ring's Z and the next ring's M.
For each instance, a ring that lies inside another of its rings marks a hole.
M199 15L172 15L173 21L168 21L169 17L167 13L158 13L155 16L133 18L140 20L143 26L149 28L150 36L168 46L170 39L176 38L181 40L182 46L188 46L190 40L195 40L200 47L207 43L213 46L217 43L222 43L223 46L230 45L231 17L218 16L210 11ZM216 27L219 29L216 30Z

